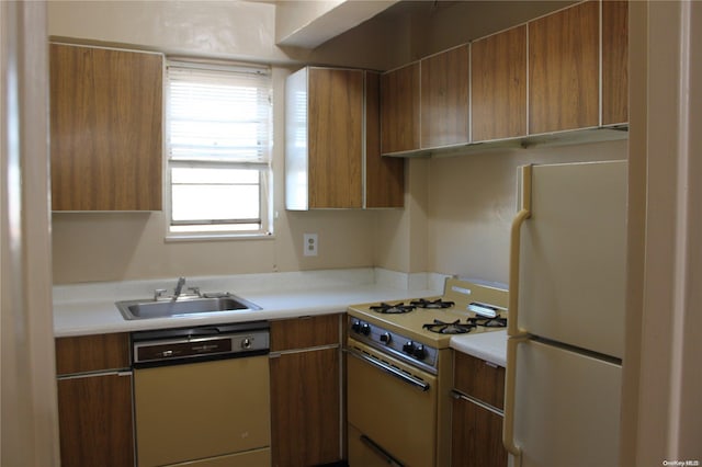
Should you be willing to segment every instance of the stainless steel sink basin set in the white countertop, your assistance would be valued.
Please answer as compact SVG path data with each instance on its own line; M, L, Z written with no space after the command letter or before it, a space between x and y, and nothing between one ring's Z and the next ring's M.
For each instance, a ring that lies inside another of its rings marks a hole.
M179 298L178 300L125 300L115 303L124 319L169 318L193 314L260 310L258 305L235 295Z

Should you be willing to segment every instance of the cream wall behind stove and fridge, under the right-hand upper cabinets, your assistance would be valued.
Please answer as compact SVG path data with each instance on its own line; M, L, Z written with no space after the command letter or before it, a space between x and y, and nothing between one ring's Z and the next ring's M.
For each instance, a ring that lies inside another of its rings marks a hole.
M626 159L626 148L620 140L431 160L429 270L507 283L517 167Z

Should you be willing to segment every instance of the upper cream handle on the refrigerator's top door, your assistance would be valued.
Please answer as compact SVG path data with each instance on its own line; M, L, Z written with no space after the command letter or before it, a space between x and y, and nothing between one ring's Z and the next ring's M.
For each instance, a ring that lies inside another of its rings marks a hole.
M512 220L510 230L509 250L509 319L507 320L507 334L509 337L525 335L526 331L519 327L519 255L521 248L522 224L531 217L531 166L522 167L521 180L521 210Z

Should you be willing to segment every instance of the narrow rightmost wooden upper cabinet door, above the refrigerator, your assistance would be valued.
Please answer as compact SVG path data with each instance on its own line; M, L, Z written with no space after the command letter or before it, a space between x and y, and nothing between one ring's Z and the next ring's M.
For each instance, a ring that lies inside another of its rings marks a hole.
M629 122L629 2L602 2L602 125Z

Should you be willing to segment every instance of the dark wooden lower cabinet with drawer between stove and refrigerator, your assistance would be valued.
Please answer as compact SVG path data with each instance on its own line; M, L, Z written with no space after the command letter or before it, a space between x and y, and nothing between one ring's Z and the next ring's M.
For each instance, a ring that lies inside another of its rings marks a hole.
M452 467L506 467L502 445L505 368L454 353Z

